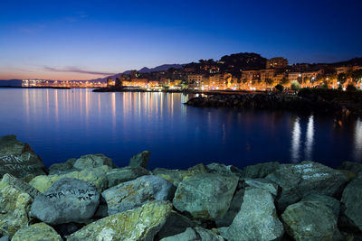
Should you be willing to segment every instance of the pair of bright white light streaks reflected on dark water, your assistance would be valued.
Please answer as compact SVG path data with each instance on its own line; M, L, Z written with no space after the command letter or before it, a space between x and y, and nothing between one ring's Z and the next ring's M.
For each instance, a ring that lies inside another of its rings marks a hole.
M291 131L291 162L300 162L312 160L313 144L314 144L314 117L310 116L307 124L304 145L304 159L301 160L300 147L302 146L302 130L300 127L300 117L294 120Z

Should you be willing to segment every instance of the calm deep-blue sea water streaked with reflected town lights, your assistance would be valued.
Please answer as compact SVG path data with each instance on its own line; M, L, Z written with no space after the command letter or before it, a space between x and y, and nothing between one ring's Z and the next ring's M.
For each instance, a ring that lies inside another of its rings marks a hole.
M49 166L104 153L119 166L150 150L150 168L224 162L362 162L362 121L275 111L186 107L167 93L0 89L0 135L16 134Z

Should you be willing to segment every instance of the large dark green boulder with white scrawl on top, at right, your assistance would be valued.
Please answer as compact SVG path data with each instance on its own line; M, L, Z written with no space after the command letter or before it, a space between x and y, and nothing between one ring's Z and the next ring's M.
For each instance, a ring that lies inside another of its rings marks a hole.
M347 183L347 177L341 171L318 162L281 164L266 179L281 186L281 197L277 200L281 211L314 193L338 197Z

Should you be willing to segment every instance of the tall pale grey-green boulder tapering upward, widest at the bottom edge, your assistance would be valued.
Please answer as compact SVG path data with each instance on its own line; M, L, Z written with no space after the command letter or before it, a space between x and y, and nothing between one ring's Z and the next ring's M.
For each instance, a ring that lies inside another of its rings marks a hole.
M230 227L222 229L227 240L278 240L284 230L274 199L267 190L246 188L243 204Z

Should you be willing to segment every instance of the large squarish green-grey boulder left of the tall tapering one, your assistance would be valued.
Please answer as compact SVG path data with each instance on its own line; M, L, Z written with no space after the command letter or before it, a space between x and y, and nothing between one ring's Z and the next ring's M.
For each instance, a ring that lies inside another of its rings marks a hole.
M174 206L194 218L222 218L230 207L237 183L235 176L196 174L180 182L173 199Z

